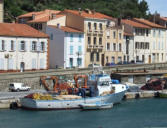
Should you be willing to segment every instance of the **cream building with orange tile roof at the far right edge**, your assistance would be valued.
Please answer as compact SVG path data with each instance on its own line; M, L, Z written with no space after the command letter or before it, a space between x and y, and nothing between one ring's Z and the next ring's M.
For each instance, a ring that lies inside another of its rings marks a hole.
M133 19L135 22L142 23L144 25L148 25L150 29L150 57L151 63L160 63L166 62L167 55L167 35L166 35L166 27L155 24L145 19Z

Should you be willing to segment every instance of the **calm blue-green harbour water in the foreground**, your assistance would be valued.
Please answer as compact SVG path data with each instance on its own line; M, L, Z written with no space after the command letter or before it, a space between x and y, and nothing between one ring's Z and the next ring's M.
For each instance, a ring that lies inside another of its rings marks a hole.
M0 110L0 128L167 128L167 99L123 101L98 111Z

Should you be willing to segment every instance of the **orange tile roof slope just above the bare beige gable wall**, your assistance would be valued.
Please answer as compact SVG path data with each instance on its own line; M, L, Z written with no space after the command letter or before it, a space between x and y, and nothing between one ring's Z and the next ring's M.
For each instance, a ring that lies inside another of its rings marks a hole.
M59 17L62 17L64 15L56 15L56 18L59 18ZM42 18L37 18L35 20L31 20L31 21L28 21L28 23L44 23L44 22L47 22L49 20L52 20L50 19L50 16L45 16L45 17L42 17Z

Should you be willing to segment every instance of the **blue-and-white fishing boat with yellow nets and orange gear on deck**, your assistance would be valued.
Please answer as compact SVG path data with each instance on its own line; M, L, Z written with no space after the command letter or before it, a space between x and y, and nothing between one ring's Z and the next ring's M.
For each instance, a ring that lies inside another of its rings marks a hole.
M49 91L45 82L46 78L42 77L41 83ZM83 86L79 85L79 78L84 78ZM80 108L81 104L90 105L95 103L101 103L104 106L106 103L120 103L128 89L124 84L113 84L110 76L106 74L96 75L94 84L88 82L88 76L76 75L74 77L75 86L69 86L67 83L58 84L55 76L50 77L50 79L54 79L54 93L28 95L20 99L21 106L34 110L75 109Z

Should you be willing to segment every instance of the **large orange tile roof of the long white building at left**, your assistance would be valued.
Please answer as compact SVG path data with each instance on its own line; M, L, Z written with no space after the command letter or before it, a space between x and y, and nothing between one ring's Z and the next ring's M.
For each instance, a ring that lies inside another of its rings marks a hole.
M0 30L0 36L48 38L47 34L26 24L0 23Z

